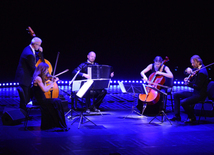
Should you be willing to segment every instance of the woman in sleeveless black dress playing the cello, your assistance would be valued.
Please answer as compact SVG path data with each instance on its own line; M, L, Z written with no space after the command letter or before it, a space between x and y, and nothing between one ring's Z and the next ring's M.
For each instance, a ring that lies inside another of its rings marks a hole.
M173 74L170 71L169 67L166 65L161 65L163 62L162 57L160 56L156 56L154 59L154 63L149 64L144 70L141 71L141 76L143 78L144 81L149 82L146 73L148 73L149 71L151 73L155 73L155 75L162 75L164 77L166 77L166 80L168 79L172 79L173 78ZM165 82L166 83L166 82ZM165 89L161 89L161 91L165 91ZM164 96L162 94L161 95L161 105L159 107L159 110L163 108L164 105Z

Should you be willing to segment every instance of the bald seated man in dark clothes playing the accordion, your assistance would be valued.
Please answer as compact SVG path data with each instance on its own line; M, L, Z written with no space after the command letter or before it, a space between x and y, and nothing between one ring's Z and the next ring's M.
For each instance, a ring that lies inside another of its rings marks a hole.
M90 65L99 65L98 63L95 62L96 59L96 53L94 51L91 51L87 55L87 61L81 63L76 69L73 70L73 74L76 74L78 71L79 74L77 77L80 77L81 79L90 79L90 75L87 74L87 67ZM111 72L110 77L114 76L114 72ZM96 92L95 97L96 100L94 101L94 104L91 106L90 102L90 92L86 92L85 97L86 97L86 112L90 113L90 106L91 109L94 110L95 112L99 111L99 106L102 103L105 95L107 94L106 89L101 89L101 90L94 90Z

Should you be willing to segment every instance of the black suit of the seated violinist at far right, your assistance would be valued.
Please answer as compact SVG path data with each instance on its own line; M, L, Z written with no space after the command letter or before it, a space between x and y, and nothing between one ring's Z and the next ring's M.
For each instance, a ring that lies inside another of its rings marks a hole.
M204 67L204 65L202 65ZM207 96L207 85L209 83L206 68L203 68L193 76L188 86L193 88L193 92L179 91L173 94L175 104L175 117L180 118L180 105L184 108L189 119L195 120L194 105Z

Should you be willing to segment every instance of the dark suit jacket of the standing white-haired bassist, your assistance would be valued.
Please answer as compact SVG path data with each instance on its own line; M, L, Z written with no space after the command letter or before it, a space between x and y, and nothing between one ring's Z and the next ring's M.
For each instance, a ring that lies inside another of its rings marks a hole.
M35 71L35 56L30 46L24 48L16 70L16 80L19 84L30 86Z

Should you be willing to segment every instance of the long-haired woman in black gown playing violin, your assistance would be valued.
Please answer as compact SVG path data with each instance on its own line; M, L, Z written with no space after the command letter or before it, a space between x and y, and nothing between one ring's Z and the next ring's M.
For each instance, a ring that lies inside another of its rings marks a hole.
M41 129L68 131L61 100L58 98L47 99L44 94L53 88L54 83L59 80L58 78L52 78L48 85L46 84L48 68L48 64L41 62L33 74L33 96L41 106Z

